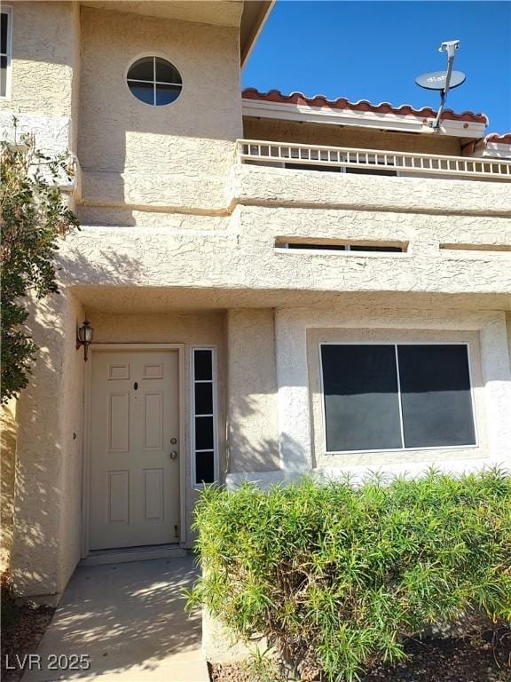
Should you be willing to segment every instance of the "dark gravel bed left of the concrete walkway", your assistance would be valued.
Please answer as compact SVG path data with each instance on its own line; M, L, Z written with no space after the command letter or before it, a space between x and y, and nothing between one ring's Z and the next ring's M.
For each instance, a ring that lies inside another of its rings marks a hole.
M18 682L21 678L18 670L5 670L5 664L15 665L16 656L23 659L25 654L34 654L37 645L43 637L44 630L51 622L55 609L51 607L35 607L25 604L17 607L9 600L2 604L2 664L0 677L2 682ZM5 615L8 617L6 618Z

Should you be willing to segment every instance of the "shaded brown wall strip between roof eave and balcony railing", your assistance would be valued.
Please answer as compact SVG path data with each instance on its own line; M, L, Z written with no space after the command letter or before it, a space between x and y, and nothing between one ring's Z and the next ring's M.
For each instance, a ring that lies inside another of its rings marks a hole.
M318 125L297 121L273 121L269 118L244 117L245 139L268 139L303 145L388 149L397 152L447 154L460 156L460 139L442 135L413 135L385 132L371 128Z

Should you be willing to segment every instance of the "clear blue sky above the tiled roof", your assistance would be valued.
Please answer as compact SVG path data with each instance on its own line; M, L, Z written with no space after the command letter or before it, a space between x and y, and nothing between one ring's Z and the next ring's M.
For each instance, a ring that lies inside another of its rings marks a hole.
M445 68L444 40L460 40L454 68L467 81L447 107L488 115L511 131L511 2L278 0L242 75L243 87L437 107L414 83Z

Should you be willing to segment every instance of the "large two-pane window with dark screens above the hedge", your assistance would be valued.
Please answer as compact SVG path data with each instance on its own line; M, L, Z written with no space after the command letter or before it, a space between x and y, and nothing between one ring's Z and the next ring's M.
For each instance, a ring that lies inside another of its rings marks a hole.
M321 344L326 450L476 445L466 344Z

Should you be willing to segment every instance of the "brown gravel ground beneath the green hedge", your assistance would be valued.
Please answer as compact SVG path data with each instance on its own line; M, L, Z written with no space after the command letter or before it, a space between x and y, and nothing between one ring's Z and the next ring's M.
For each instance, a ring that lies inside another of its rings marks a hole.
M412 658L397 666L377 666L362 682L511 682L511 633L497 646L491 636L476 643L468 639L409 640ZM255 682L243 664L211 665L212 682Z

